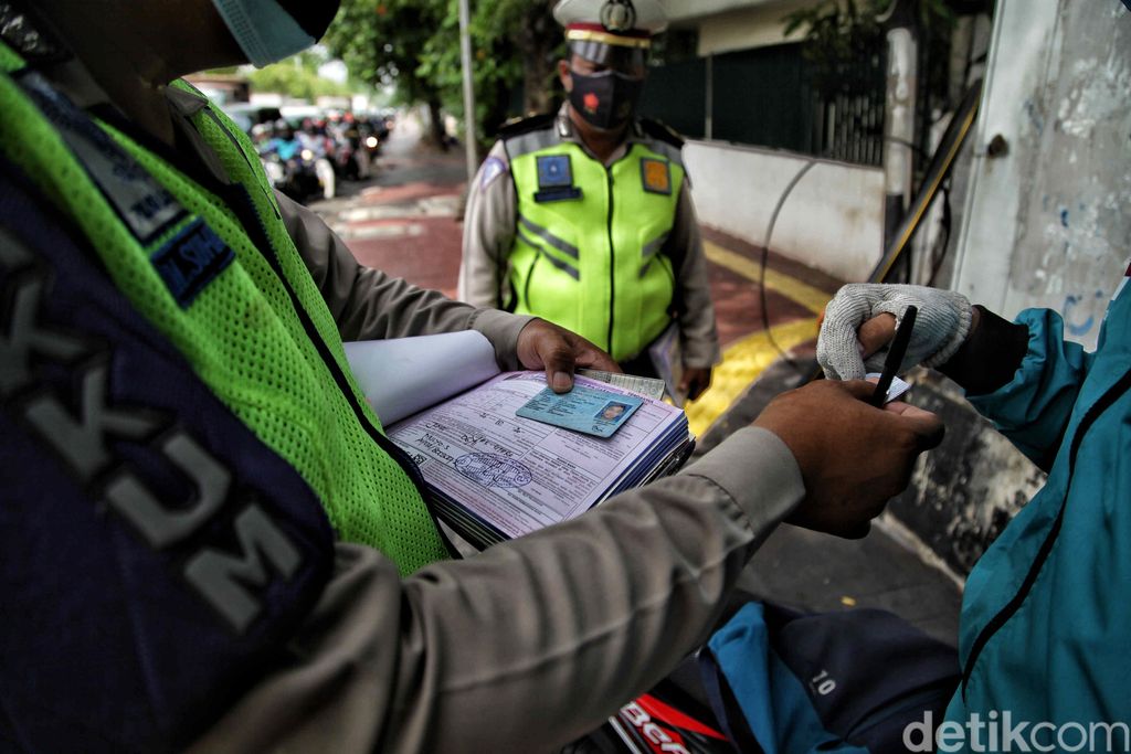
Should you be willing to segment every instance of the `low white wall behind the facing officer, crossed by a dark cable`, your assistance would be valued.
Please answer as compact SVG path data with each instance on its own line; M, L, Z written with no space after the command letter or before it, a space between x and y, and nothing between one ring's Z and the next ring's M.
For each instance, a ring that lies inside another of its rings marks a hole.
M683 159L699 222L765 245L774 208L814 162L778 214L770 249L844 280L862 280L883 245L883 172L757 147L689 141Z

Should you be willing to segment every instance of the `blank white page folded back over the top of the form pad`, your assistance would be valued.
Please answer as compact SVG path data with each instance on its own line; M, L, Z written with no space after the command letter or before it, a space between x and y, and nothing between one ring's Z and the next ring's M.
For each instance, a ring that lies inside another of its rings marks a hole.
M491 341L475 330L345 344L361 390L388 426L499 374Z

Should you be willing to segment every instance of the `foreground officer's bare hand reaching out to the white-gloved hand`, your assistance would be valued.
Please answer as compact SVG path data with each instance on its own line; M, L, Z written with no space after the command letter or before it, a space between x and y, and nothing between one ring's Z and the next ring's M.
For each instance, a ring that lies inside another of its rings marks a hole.
M942 442L942 419L900 402L873 408L874 389L863 380L820 380L778 396L756 419L782 437L801 468L805 500L789 523L863 537L907 487L916 457Z

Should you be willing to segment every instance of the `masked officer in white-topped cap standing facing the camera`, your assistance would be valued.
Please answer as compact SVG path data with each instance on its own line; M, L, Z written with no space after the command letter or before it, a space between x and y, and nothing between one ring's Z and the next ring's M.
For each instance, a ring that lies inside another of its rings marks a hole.
M677 341L677 390L696 398L719 348L683 142L634 116L664 12L655 0L562 0L554 18L568 101L506 127L480 168L460 297L561 324L636 374L656 373L649 345L674 324L663 341Z

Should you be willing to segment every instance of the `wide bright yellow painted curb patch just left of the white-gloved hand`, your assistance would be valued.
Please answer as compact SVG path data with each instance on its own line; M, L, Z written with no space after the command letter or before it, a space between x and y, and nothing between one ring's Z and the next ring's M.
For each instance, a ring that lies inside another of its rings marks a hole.
M770 332L775 343L789 350L817 337L817 319L784 322L770 328ZM779 355L766 330L748 335L723 352L723 363L715 367L710 389L683 407L696 436L702 436Z

